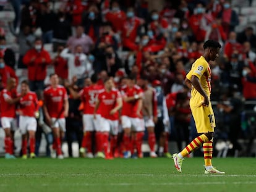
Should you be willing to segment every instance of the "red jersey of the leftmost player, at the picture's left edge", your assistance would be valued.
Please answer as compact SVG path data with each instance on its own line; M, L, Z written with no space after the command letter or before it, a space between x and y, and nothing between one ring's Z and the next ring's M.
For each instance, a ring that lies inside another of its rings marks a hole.
M17 94L15 91L7 91L6 89L0 92L0 109L1 117L15 117L16 105L9 104L6 99L16 98Z

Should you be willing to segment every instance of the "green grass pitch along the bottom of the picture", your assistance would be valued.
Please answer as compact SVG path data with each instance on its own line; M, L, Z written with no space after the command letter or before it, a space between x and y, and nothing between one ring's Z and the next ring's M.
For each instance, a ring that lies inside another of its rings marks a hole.
M256 191L255 158L213 159L225 175L203 174L203 158L0 159L0 191Z

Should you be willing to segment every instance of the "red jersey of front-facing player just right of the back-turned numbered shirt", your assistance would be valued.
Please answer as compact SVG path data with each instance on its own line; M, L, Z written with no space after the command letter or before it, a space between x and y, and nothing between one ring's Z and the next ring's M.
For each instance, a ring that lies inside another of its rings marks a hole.
M110 120L118 120L118 111L113 115L110 114L110 111L116 107L118 98L121 98L121 94L116 89L109 92L104 90L98 95L98 100L100 101L98 113L101 115L101 117Z

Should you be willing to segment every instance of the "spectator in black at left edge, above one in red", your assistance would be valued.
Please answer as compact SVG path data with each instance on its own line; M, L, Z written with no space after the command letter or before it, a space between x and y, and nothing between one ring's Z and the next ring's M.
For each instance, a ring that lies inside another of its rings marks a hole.
M9 67L12 67L12 69L14 69L14 65L15 65L14 51L12 51L12 49L10 48L7 48L6 38L4 36L0 38L0 53L4 57L5 64L8 65Z

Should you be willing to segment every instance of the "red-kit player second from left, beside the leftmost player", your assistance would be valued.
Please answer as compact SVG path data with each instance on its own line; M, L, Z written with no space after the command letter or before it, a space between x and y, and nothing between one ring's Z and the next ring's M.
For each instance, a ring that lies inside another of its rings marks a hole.
M28 81L21 83L21 93L23 95L19 102L19 128L22 134L22 159L27 159L27 132L30 143L30 157L35 157L35 131L38 112L38 99L34 92L30 91Z

